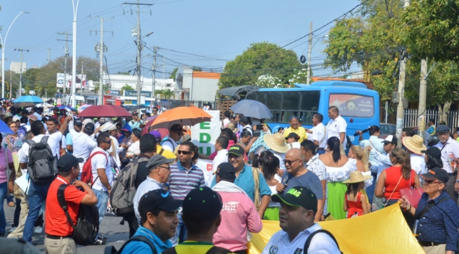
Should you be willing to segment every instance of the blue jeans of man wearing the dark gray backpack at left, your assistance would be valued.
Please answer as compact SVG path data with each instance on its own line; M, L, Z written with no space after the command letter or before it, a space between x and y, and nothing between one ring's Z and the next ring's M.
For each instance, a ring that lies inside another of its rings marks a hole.
M46 200L46 195L48 194L48 189L51 183L52 181L47 183L34 183L30 181L29 190L27 191L29 213L27 215L27 219L25 220L24 233L22 235L22 238L28 242L32 242L32 233L34 231L35 221L40 215L42 203Z

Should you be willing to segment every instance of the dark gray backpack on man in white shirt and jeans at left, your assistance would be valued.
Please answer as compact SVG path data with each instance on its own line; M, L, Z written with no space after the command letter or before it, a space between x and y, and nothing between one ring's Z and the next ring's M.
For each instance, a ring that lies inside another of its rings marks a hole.
M57 173L57 157L48 145L49 136L44 136L42 140L35 143L28 140L29 161L27 162L27 172L34 183L44 183L54 180Z

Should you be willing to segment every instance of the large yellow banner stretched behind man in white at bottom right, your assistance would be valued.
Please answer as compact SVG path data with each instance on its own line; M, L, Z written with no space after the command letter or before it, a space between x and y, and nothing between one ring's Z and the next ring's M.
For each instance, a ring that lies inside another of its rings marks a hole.
M403 218L398 203L363 216L319 225L333 233L344 254L424 254ZM249 254L260 254L280 230L278 221L263 221L263 230L252 235Z

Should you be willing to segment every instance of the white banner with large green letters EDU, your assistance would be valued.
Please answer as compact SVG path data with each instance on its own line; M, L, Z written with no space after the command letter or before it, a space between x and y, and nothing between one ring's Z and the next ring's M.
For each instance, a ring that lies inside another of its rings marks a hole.
M199 147L199 153L210 155L215 150L215 141L220 136L220 111L206 111L212 116L210 122L191 127L191 140Z

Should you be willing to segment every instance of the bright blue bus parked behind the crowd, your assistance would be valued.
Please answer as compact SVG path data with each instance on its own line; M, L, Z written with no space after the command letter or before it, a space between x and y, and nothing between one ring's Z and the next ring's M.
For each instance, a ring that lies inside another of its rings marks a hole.
M327 125L330 106L338 107L339 115L348 124L346 135L354 145L358 144L358 138L354 137L356 130L379 126L379 95L358 82L319 81L311 85L295 84L294 88L260 88L248 92L246 99L268 106L272 118L265 119L265 123L271 129L289 127L292 115L301 119L303 127L312 128L315 113L321 113L323 124ZM363 138L368 139L368 135L364 133Z

